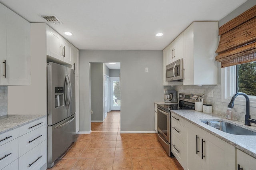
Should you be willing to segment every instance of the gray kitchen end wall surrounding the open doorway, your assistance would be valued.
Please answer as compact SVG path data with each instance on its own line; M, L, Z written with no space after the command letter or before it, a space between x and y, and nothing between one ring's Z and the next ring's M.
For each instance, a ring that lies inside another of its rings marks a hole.
M91 129L90 62L121 63L121 131L154 131L154 101L163 100L163 51L80 50L80 132Z

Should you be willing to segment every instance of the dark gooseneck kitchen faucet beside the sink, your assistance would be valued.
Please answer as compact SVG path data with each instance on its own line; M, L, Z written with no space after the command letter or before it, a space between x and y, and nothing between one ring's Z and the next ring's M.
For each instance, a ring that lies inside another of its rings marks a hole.
M249 100L249 97L248 95L246 95L245 93L241 93L241 92L238 92L236 94L234 94L234 96L232 97L230 103L228 104L228 107L229 108L233 108L234 107L234 101L236 99L236 97L238 95L243 95L246 99L246 115L245 115L245 123L244 125L248 125L248 126L251 126L251 123L256 123L256 120L255 119L251 119L251 116L250 116L250 100Z

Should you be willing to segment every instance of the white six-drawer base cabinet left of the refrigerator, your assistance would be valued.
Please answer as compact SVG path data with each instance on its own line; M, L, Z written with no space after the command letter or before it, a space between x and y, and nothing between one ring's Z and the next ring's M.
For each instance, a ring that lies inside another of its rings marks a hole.
M46 117L0 134L0 170L46 169Z

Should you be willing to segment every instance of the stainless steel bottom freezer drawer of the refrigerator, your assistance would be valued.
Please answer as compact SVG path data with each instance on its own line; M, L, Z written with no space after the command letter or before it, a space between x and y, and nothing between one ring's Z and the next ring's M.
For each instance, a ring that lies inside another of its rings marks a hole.
M62 155L65 150L74 142L76 135L75 114L64 121L47 127L48 131L48 161L47 167L51 168L54 161Z

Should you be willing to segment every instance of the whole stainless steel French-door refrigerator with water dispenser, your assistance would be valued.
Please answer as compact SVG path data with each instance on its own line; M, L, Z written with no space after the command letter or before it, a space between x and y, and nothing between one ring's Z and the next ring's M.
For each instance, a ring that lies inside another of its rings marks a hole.
M47 167L74 142L76 135L75 71L47 63Z

